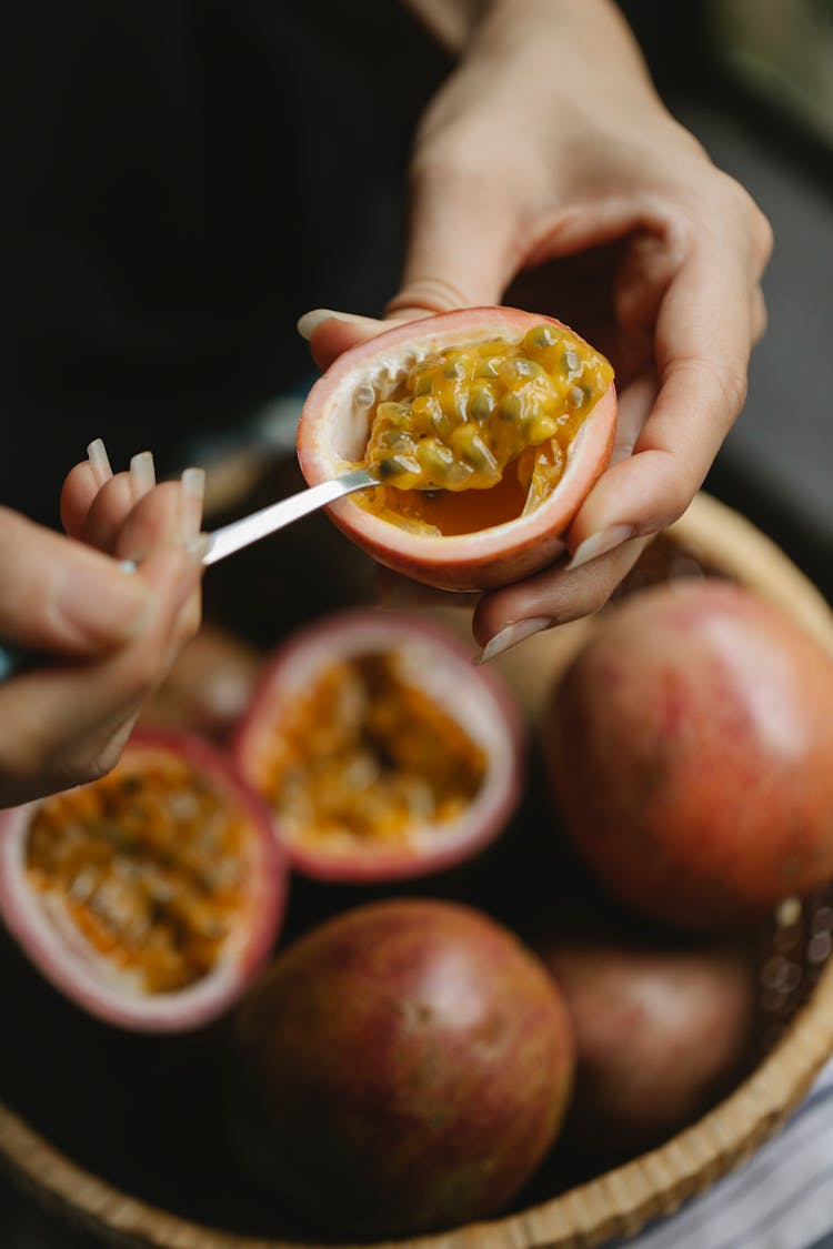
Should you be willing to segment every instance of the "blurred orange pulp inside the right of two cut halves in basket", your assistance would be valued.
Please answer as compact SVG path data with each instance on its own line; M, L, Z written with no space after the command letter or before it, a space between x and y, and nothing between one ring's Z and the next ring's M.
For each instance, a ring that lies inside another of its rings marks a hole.
M326 667L282 712L259 788L300 844L401 844L458 816L486 766L396 654L371 652Z

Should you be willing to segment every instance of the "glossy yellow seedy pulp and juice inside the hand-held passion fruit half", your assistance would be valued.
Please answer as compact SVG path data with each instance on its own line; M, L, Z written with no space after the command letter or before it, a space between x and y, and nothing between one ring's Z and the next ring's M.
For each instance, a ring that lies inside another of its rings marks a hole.
M546 323L520 342L490 338L427 356L371 411L363 465L382 485L356 502L445 535L513 520L556 487L612 378L603 356Z

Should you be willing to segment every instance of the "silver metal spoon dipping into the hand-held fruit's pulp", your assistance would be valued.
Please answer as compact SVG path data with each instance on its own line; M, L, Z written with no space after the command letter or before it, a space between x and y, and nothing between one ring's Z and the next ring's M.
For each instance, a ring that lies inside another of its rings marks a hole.
M297 495L281 498L277 503L269 503L250 516L231 521L229 525L205 535L209 542L202 556L202 565L209 567L217 563L219 560L225 560L226 556L242 551L252 542L257 542L270 533L276 533L283 526L300 521L302 516L308 516L318 507L335 503L337 498L352 495L357 490L377 485L377 478L367 468L351 468L350 472L333 477L331 481L323 481L310 490L301 490ZM126 560L122 568L135 572L136 565L132 560ZM42 658L42 652L35 652L14 643L0 644L0 683L22 669L31 668Z

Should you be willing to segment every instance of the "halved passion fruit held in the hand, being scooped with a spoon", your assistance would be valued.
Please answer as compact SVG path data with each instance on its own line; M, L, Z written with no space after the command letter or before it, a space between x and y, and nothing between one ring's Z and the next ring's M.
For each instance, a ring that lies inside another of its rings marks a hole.
M380 563L488 590L562 553L614 428L613 370L583 338L541 315L465 309L340 356L303 406L298 461L311 486L375 473L330 515Z

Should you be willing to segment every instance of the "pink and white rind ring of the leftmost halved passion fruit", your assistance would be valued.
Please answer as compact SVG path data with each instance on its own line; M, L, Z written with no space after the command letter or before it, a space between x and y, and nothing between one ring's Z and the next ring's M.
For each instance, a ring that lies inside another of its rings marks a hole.
M134 731L124 758L147 751L189 758L225 787L250 818L245 909L234 945L220 964L175 993L142 995L107 983L82 940L59 936L27 883L25 838L37 803L0 812L0 918L42 975L90 1014L134 1032L186 1032L227 1010L262 968L283 918L287 862L272 836L269 812L219 749L190 733L142 728Z

